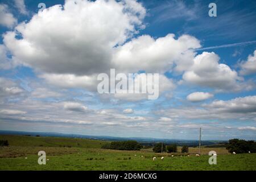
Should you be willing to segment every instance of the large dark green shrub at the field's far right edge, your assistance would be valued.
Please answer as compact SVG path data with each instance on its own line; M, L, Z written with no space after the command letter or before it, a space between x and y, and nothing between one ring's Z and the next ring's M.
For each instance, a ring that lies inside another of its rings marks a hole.
M251 153L255 153L256 142L254 142L253 140L246 141L240 139L230 139L226 149L230 153L236 152L237 154L248 153L249 151Z

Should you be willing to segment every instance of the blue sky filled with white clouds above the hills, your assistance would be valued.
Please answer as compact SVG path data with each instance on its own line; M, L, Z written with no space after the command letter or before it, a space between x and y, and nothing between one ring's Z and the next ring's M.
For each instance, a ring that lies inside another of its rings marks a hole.
M255 10L253 0L0 0L0 130L198 139L201 127L204 140L256 140ZM98 93L110 69L158 73L158 99Z

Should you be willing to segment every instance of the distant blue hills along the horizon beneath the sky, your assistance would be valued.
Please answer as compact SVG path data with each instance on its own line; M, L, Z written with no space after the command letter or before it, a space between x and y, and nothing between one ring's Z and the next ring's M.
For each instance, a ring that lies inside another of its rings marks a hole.
M30 135L40 137L65 137L65 138L77 138L77 139L90 139L90 140L106 140L106 141L124 141L124 140L136 140L144 146L152 146L155 143L163 142L166 144L177 144L178 146L187 145L189 147L198 146L198 140L184 140L184 139L159 139L159 138L141 138L141 137L109 137L109 136L92 136L92 135L80 135L80 134L63 134L63 133L47 133L47 132L26 132L26 131L3 131L0 130L0 135ZM202 146L214 145L223 143L226 141L220 140L203 140L201 141Z

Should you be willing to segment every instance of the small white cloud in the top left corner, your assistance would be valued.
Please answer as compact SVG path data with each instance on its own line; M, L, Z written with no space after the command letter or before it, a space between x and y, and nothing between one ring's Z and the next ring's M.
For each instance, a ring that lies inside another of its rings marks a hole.
M0 25L8 28L12 28L18 22L5 4L0 4L0 17Z

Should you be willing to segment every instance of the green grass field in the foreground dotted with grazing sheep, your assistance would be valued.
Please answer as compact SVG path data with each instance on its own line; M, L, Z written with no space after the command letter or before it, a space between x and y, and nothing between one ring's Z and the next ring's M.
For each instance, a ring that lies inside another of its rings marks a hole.
M0 147L0 170L256 170L256 154L231 155L225 148L202 149L203 154L210 150L217 152L217 165L209 165L208 155L195 156L197 148L189 148L190 156L180 156L180 153L154 154L150 149L105 150L100 148L104 141L98 140L0 136L0 139L6 138L10 140L10 147ZM79 146L72 143L77 140ZM46 165L38 164L40 150L46 151L49 159Z

